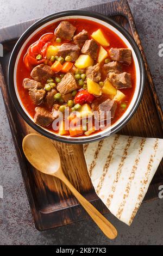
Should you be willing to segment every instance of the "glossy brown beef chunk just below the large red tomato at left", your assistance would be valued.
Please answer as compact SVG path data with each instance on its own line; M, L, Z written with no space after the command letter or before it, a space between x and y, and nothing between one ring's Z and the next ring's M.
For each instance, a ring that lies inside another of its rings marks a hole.
M36 81L46 81L54 76L54 72L48 65L40 64L35 66L30 76Z

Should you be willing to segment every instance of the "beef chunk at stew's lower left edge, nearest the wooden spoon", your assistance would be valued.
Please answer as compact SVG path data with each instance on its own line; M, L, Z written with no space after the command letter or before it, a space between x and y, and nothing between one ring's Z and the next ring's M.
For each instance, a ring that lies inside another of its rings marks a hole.
M35 108L34 121L41 126L48 126L54 120L52 114L43 107Z

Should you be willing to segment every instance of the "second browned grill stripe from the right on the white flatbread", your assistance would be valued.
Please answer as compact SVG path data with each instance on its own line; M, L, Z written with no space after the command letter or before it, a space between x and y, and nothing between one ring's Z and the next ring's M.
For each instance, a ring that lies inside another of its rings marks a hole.
M121 215L122 215L122 212L123 212L123 209L124 209L124 205L126 204L126 198L129 195L130 188L131 188L131 183L134 180L135 172L137 170L137 166L138 166L139 161L140 161L140 155L141 155L141 153L143 151L143 147L145 145L145 142L146 142L146 138L142 138L141 141L140 141L139 153L136 156L133 169L131 170L131 174L129 176L129 181L128 181L127 186L126 186L126 191L125 191L126 193L123 194L123 202L121 203L121 205L120 205L120 207L118 209L117 215L116 215L117 218L121 218Z

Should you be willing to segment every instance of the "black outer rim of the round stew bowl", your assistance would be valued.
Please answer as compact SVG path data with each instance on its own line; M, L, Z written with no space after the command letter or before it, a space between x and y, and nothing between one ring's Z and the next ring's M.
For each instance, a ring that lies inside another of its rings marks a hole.
M139 68L140 68L140 88L139 88L139 93L137 96L137 99L135 101L135 105L133 106L133 108L131 109L130 113L127 115L127 117L121 121L120 124L116 125L113 129L106 131L105 133L103 133L103 135L100 135L99 133L96 133L94 137L85 137L85 138L70 138L70 137L61 137L61 136L57 136L55 135L55 133L51 133L48 132L44 129L41 128L41 126L38 126L34 123L34 121L32 121L28 115L24 112L24 110L22 109L20 102L17 99L16 96L16 92L15 92L15 87L14 87L14 67L15 67L15 61L16 61L16 57L17 57L17 52L20 50L20 48L22 47L22 44L24 43L24 41L27 40L28 36L30 34L32 34L37 28L39 28L40 26L44 25L45 23L54 20L57 18L61 18L61 17L65 17L66 16L88 16L88 17L94 17L98 20L102 20L106 23L109 23L111 26L115 27L118 31L120 31L124 37L126 37L126 39L129 41L129 43L131 44L131 46L133 47L136 57L137 57L137 61L139 63ZM134 39L131 37L131 35L126 31L126 29L124 29L122 26L120 26L117 22L115 22L114 20L110 19L109 17L106 17L102 14L99 13L94 13L91 11L86 11L86 10L65 10L65 11L59 11L58 13L54 13L51 15L48 15L46 17L43 17L42 19L40 19L39 21L36 21L32 26L30 26L20 37L20 39L18 39L14 49L12 50L11 53L11 57L9 60L9 68L8 68L8 90L9 90L9 94L10 97L12 99L12 102L14 103L18 113L21 114L22 118L27 122L28 125L30 125L34 130L36 130L37 132L41 133L42 135L50 138L50 139L54 139L55 141L59 141L59 142L65 142L65 143L71 143L71 144L84 144L84 143L91 143L91 142L96 142L100 139L104 139L106 137L109 137L110 135L118 132L119 130L122 129L122 127L124 125L127 124L127 122L130 120L131 117L133 117L137 107L140 104L142 95L143 95L143 89L144 89L144 85L145 85L145 68L144 68L144 64L143 64L143 59L141 56L141 52L139 50L139 47L136 45L136 42L134 41Z

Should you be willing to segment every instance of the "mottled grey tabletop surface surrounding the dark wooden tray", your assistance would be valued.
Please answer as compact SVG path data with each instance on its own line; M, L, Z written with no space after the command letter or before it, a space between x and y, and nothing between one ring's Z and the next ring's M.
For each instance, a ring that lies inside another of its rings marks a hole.
M0 27L42 17L54 10L82 8L104 2L107 1L0 0ZM129 0L129 4L163 105L163 58L158 55L158 46L163 43L162 0ZM106 239L91 220L42 233L37 231L1 93L0 123L0 185L4 188L3 199L0 199L0 245L163 245L163 199L142 204L131 227L108 215L118 230L118 237L114 241Z

